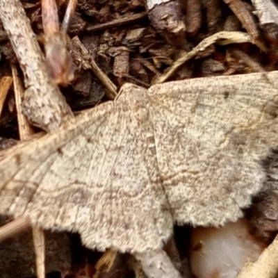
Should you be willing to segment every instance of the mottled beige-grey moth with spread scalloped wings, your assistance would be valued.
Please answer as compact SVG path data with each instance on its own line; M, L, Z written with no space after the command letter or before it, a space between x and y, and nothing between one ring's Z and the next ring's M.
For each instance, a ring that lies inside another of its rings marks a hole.
M177 224L236 221L277 147L278 72L125 84L3 153L0 213L74 231L89 248L159 250Z

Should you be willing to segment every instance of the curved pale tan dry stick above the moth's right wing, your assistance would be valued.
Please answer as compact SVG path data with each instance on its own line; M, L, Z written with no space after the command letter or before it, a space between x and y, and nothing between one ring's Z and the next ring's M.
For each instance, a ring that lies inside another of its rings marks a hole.
M209 47L211 44L214 44L215 42L218 42L218 44L232 44L232 43L243 43L243 42L251 42L250 35L247 33L242 32L226 32L221 31L218 33L215 33L211 35L208 38L205 38L200 42L196 47L194 47L188 54L185 56L182 56L178 60L176 60L169 70L163 75L161 75L158 79L154 81L154 83L163 83L167 79L174 74L174 72L184 63L186 63L191 58L197 56L200 51L204 51L206 47ZM263 46L261 46L262 50L265 50Z

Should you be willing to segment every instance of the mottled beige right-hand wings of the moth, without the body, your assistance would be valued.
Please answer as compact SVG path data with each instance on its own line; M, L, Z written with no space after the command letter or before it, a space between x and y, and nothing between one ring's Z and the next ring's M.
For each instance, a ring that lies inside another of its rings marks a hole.
M235 221L278 145L277 72L190 79L149 89L158 167L174 220Z

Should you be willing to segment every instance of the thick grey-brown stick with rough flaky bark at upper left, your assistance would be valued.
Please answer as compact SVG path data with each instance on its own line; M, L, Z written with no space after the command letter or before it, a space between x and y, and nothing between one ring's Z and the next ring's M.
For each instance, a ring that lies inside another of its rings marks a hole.
M22 3L1 0L0 17L24 74L24 115L45 131L58 129L72 117L72 111L49 79L47 65Z

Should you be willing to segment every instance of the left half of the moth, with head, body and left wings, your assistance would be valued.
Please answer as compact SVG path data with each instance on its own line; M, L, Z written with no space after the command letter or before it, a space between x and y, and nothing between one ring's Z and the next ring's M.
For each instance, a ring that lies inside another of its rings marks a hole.
M145 90L126 85L60 131L0 161L0 213L77 231L92 249L158 249L172 215L156 163Z

